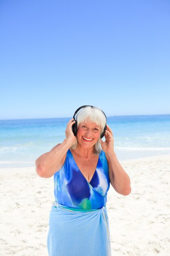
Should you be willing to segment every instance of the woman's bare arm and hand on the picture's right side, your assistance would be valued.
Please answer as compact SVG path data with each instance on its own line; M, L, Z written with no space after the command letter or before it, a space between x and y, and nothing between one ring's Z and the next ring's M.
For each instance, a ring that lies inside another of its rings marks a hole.
M130 178L116 157L113 149L113 133L109 126L107 126L104 136L106 141L103 142L101 140L101 145L102 149L106 153L110 183L117 193L121 195L128 195L131 192Z

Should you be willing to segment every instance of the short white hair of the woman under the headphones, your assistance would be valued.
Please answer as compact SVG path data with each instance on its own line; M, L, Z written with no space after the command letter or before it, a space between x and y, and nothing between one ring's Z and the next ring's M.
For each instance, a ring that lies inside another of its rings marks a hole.
M80 124L89 122L91 124L97 124L101 128L100 136L103 133L104 127L106 125L106 117L101 109L97 107L85 107L82 110L80 110L76 117L77 120L77 128ZM101 151L101 145L100 145L100 136L96 144L94 145L94 153L98 155ZM77 147L77 140L76 143L71 147L72 149L75 149Z

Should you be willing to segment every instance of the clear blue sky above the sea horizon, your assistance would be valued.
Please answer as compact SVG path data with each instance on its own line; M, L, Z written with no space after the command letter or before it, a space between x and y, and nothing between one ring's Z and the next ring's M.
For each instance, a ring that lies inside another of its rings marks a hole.
M170 114L169 0L1 0L0 119Z

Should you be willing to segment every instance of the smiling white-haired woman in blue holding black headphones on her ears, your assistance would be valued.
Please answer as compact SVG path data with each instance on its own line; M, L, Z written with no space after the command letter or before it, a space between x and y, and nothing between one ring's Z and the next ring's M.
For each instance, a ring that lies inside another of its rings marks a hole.
M99 108L78 108L67 124L66 139L35 161L40 177L54 175L49 256L111 255L107 191L110 184L121 195L128 195L131 189L106 121Z

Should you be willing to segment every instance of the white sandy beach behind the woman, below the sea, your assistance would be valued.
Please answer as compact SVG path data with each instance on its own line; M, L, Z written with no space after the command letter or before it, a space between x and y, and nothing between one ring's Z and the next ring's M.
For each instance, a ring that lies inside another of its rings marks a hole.
M169 256L170 155L120 163L132 192L108 191L112 256ZM53 177L40 178L35 167L0 169L0 255L48 256L53 201Z

